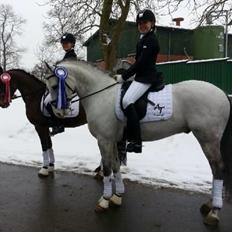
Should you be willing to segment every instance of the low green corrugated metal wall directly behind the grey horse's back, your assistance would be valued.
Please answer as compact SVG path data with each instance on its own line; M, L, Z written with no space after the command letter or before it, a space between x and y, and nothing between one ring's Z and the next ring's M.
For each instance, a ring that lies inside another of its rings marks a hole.
M157 69L163 72L166 83L203 80L232 94L232 60L168 62L157 64Z

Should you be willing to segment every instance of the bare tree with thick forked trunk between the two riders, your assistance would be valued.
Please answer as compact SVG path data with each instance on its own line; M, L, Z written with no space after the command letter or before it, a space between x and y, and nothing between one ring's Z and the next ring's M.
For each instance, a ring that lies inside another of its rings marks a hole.
M99 29L106 69L112 70L116 60L117 43L129 10L135 12L153 1L50 0L49 2L51 5L48 12L49 20L44 24L48 44L57 42L67 31L73 33L81 44L86 35L90 35L94 29ZM110 19L116 20L112 24Z

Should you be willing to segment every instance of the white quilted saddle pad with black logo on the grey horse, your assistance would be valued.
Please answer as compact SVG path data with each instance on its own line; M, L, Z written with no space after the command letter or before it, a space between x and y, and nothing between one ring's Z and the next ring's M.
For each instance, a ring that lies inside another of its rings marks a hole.
M119 87L119 91L116 97L115 113L119 120L126 121L126 117L120 106L120 95L121 88ZM140 120L140 122L167 120L172 116L173 104L171 84L166 85L164 89L159 92L150 92L148 94L148 99L153 103L148 102L147 113L145 117Z

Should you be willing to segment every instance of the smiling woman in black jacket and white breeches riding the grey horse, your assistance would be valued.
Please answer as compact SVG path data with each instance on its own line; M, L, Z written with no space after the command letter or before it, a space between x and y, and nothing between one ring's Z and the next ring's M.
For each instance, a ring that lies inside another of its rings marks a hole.
M140 39L136 47L135 63L122 74L127 80L135 74L135 78L123 97L123 108L127 116L128 152L142 152L142 140L139 118L134 103L156 83L156 59L160 47L154 34L155 16L150 10L143 10L136 18Z

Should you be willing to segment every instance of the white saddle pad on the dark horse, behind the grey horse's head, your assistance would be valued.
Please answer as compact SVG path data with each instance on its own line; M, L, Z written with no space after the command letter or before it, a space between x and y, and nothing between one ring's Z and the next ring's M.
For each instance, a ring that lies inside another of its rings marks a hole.
M78 114L79 114L79 105L80 105L80 102L76 101L78 99L79 99L79 96L75 96L75 97L72 98L69 107L67 109L65 109L64 118L74 118L74 117L78 116ZM43 95L42 99L41 99L40 108L41 108L41 112L46 117L51 117L50 113L46 109L47 104L50 103L50 102L51 102L50 93L45 93ZM56 112L54 112L54 114L56 114Z

